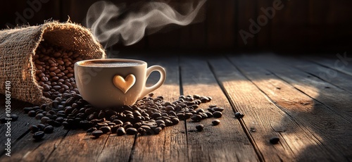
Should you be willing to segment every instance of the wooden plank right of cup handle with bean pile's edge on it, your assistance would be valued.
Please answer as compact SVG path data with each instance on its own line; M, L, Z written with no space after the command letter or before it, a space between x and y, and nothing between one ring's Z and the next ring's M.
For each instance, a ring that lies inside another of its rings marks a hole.
M182 88L185 95L212 96L208 104L225 108L220 125L213 126L214 118L202 120L203 132L196 132L199 123L187 120L187 143L190 161L260 161L234 111L222 93L208 63L203 58L182 57L180 60Z

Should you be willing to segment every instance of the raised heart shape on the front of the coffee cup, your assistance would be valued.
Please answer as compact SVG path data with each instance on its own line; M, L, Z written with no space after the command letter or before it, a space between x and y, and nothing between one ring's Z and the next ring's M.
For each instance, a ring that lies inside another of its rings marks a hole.
M115 85L115 87L118 87L118 89L120 89L125 94L128 89L130 89L134 85L135 82L136 77L134 77L133 74L127 75L125 79L120 75L115 75L113 77L113 84Z

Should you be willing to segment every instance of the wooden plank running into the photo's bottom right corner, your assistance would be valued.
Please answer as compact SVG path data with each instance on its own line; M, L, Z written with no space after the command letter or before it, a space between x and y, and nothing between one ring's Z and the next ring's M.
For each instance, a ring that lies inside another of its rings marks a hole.
M310 149L321 149L322 147L328 150L325 154L329 154L329 156L319 155L320 158L325 156L330 161L348 161L348 158L352 157L351 151L348 149L352 147L352 142L349 140L352 138L351 122L341 118L327 106L294 89L287 82L276 76L267 75L268 71L253 66L256 65L255 63L249 63L244 59L234 57L231 58L231 61L270 100L274 101L282 111L293 118L300 127L303 127L305 129L304 133L318 139L320 144L306 145L306 147L301 148L304 151L297 154L298 158L317 156L320 153L317 154ZM301 133L301 131L297 131L295 134ZM303 141L306 142L306 139L303 139Z

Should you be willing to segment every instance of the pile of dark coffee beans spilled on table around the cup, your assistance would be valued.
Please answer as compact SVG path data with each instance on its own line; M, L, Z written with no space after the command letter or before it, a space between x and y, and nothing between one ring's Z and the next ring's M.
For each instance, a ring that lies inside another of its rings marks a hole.
M199 122L205 118L221 118L222 107L199 108L200 104L209 101L209 96L181 95L176 101L169 102L164 101L163 96L149 94L132 106L101 109L91 106L80 94L64 92L49 105L25 107L24 111L41 121L39 125L30 126L34 139L41 139L44 133L51 133L54 127L61 125L68 130L86 130L94 137L107 133L156 135L165 127L177 125L180 120L190 118ZM213 121L213 125L219 123L220 120ZM196 127L199 132L203 128L203 125Z

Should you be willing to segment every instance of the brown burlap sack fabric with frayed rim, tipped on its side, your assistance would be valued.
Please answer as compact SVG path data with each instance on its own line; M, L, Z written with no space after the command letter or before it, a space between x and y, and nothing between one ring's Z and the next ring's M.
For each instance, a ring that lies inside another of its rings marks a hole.
M0 31L0 93L11 82L11 98L32 104L49 104L35 79L32 57L45 40L63 49L79 51L83 59L105 58L106 54L92 32L74 23L49 22L43 25Z

